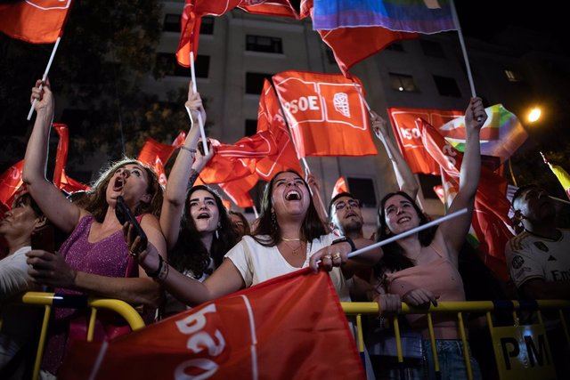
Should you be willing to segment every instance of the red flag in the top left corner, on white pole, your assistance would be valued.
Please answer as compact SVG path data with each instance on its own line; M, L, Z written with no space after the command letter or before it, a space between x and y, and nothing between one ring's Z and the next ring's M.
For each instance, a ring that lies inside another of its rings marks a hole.
M51 44L68 17L71 0L25 0L0 4L0 31L32 44Z

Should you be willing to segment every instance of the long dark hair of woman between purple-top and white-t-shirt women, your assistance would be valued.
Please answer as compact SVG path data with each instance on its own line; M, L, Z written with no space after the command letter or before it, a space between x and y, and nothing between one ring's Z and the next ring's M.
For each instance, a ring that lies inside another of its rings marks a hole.
M190 214L190 199L192 193L198 190L208 191L216 200L218 210L218 226L217 235L212 239L212 247L210 252L202 243L196 224ZM177 271L190 270L196 279L199 279L208 269L209 258L214 260L214 265L217 268L224 260L224 255L239 241L239 236L234 230L232 221L225 210L222 198L220 198L216 191L210 189L208 186L198 185L192 187L186 196L184 202L184 211L182 221L180 222L180 233L175 247L168 255L170 263Z

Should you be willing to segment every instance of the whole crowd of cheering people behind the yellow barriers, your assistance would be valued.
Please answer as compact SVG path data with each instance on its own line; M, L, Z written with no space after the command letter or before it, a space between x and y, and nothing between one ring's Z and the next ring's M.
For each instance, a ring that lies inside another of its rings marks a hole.
M404 366L398 367L394 365L394 344L389 344L394 336L384 317L401 311L402 303L427 307L465 301L469 287L483 287L476 281L488 283L486 278L500 283L485 270L474 277L469 271L476 265L461 266L469 255L466 237L481 171L479 136L486 114L478 98L471 99L465 112L460 189L447 211L467 208L468 213L352 259L347 255L356 249L429 222L416 201L419 185L414 175L387 133L386 122L373 112L372 129L386 148L399 188L381 199L378 230L366 237L358 198L349 192L339 193L330 200L329 219L323 220L320 203L312 196L318 184L295 171L275 174L266 184L259 217L251 224L242 214L226 210L216 190L194 186L214 153L210 150L205 155L198 149L198 116L205 121L207 115L199 93L191 86L185 107L191 110L194 122L165 190L150 167L124 159L102 171L81 196L66 197L45 178L54 109L49 83L38 81L31 99L36 101L37 118L26 150L25 190L0 222L0 236L7 247L7 255L0 255L0 303L30 290L96 295L126 301L147 323L153 323L199 303L311 267L330 272L341 301L379 303L380 316L369 321L365 334L367 364L373 368L367 370L369 377L421 379L435 378L426 316L407 315L403 320L402 339L410 344L405 344ZM124 198L140 223L146 242L133 223L118 221L118 197ZM530 184L517 190L512 206L522 232L509 242L506 257L518 295L570 298L570 234L557 228L553 200L546 190ZM68 236L60 247L53 244L55 230ZM480 267L485 269L485 265ZM500 294L487 299L518 296L501 294L503 287L496 288ZM508 287L504 289L508 291ZM27 353L34 346L30 342L37 334L34 327L39 316L11 303L2 308L2 317L0 377L26 376L30 367ZM85 319L85 311L54 310L43 378L57 376L72 341L85 336ZM464 347L457 320L441 316L433 322L442 377L464 378ZM128 331L105 315L98 323L95 339ZM556 332L562 327L552 320L551 328ZM474 346L475 339L472 336ZM477 356L476 347L469 352ZM474 378L482 378L487 364L483 357L476 359L470 358Z

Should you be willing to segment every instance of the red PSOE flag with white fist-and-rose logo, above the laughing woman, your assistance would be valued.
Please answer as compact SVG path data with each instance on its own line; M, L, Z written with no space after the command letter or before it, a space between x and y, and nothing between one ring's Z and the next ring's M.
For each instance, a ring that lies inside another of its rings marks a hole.
M285 71L273 84L299 157L378 154L358 78Z

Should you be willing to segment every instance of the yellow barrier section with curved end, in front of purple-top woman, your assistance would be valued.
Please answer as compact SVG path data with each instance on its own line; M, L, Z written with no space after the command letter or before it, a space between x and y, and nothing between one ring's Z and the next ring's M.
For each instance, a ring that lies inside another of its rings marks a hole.
M138 330L144 327L144 321L140 314L135 311L131 305L124 301L87 297L85 295L58 295L40 292L24 293L21 295L19 300L21 303L29 305L44 306L44 318L42 319L42 329L37 343L36 360L34 361L33 380L37 380L37 378L39 378L39 370L44 356L45 338L47 336L47 328L53 307L74 309L88 308L91 310L89 325L87 327L87 336L85 336L87 342L91 342L93 340L98 310L108 310L118 313L118 315L126 320L126 323L128 323L133 330ZM0 331L2 331L2 319L0 319Z

